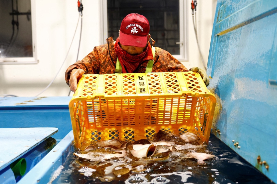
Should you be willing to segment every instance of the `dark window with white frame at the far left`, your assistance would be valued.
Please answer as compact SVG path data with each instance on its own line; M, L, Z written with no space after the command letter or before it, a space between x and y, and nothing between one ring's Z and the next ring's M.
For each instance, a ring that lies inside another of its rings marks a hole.
M0 1L0 64L35 64L35 0Z

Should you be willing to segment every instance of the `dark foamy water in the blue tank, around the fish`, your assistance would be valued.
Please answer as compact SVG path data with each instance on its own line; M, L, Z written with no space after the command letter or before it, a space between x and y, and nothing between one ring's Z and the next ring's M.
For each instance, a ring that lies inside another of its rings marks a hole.
M92 163L70 154L64 165L56 171L56 176L49 179L49 184L274 184L213 134L205 149L216 156L205 160L205 165L198 165L195 159L180 157L170 157L166 161L138 159L129 163L130 167L137 167L136 169L117 177L111 173L110 178L100 177L107 172L105 167L109 165L102 163L103 169L95 171L91 169ZM116 162L118 161L115 160L114 163L117 164Z

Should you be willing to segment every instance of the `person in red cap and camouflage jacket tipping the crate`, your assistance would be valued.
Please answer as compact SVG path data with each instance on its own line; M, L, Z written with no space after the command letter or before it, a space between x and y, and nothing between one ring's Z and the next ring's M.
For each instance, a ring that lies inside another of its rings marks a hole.
M106 44L94 47L83 60L67 68L65 81L71 91L75 93L83 74L188 71L168 51L154 47L155 41L150 37L149 30L146 17L138 13L127 15L121 22L119 37L115 41L113 37L107 38ZM204 70L198 67L190 70L199 72L208 86L209 79Z

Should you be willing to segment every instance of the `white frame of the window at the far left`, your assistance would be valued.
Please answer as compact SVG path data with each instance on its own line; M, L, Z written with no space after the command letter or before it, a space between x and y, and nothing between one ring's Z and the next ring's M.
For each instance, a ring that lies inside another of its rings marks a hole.
M32 50L33 57L17 57L17 58L0 58L0 65L2 64L38 64L37 60L37 38L36 38L36 13L35 0L31 1L31 24L32 24Z

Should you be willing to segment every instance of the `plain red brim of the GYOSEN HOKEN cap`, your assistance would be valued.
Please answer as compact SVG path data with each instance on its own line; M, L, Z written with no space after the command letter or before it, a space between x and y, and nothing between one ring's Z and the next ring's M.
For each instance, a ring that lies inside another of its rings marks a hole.
M135 47L145 47L147 43L148 35L146 36L136 36L136 35L129 35L119 32L119 42L122 45L127 46L135 46Z

